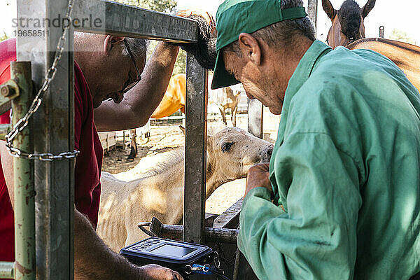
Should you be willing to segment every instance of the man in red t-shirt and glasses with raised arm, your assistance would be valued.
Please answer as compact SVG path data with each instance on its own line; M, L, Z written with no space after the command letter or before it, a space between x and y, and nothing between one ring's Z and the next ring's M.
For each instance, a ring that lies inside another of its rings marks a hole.
M75 146L80 151L75 167L75 277L182 279L178 273L157 265L130 265L94 232L102 167L97 130L129 130L145 125L165 94L179 49L160 43L141 77L146 59L144 40L77 33L74 49ZM6 68L13 60L15 39L0 43L0 83L10 77ZM14 260L13 164L3 144L1 163L0 260Z

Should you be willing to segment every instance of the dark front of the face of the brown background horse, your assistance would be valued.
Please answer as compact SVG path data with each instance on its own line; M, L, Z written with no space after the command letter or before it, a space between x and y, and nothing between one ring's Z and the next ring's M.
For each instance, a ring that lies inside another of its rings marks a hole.
M360 7L354 0L342 3L337 13L341 24L341 31L347 38L357 38L360 29Z

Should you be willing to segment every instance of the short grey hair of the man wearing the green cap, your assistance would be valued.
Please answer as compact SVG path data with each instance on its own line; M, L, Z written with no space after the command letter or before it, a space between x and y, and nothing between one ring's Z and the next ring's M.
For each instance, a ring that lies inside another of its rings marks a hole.
M282 9L301 6L303 6L302 0L281 1ZM283 47L285 45L293 47L293 39L295 39L296 36L305 36L310 40L315 41L315 29L311 20L309 20L308 17L305 17L273 23L272 25L268 25L267 27L263 27L262 29L253 32L252 36L265 41L270 48ZM236 55L241 56L238 41L227 45L223 50L235 52Z

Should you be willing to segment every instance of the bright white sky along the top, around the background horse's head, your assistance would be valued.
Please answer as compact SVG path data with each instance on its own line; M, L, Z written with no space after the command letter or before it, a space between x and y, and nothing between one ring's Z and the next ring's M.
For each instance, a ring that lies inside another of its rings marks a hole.
M218 5L223 0L177 0L179 9L200 8L209 10L216 15ZM306 3L307 0L304 0ZM330 0L332 6L339 8L344 0ZM356 0L360 6L364 6L367 0ZM417 45L420 45L419 28L420 1L417 0L377 0L372 12L365 18L365 29L367 37L379 36L379 26L385 27L385 38L389 36L392 29L400 29L414 38ZM12 19L16 17L16 1L0 0L0 34L13 34ZM322 10L321 0L318 0L318 23L317 37L325 41L330 20ZM0 36L1 36L0 35Z

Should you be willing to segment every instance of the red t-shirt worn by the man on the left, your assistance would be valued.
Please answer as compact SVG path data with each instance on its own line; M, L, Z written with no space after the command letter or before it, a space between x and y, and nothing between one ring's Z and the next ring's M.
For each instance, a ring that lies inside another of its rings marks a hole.
M16 60L15 38L0 43L0 83L10 78L8 65ZM8 113L7 113L8 114ZM7 115L8 116L8 115ZM0 122L10 120L0 118ZM97 226L100 175L102 169L102 145L93 122L93 103L89 87L80 67L74 62L74 139L80 151L75 166L76 209L87 215L94 228ZM13 208L10 204L3 168L0 162L0 261L15 260Z

